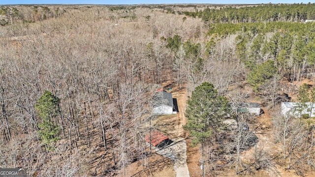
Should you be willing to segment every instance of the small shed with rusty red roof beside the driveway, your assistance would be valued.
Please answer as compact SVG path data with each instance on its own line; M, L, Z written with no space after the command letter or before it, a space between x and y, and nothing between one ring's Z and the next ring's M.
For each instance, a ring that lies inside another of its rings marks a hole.
M152 131L151 134L146 135L145 141L148 143L150 143L150 135L151 145L153 145L154 147L164 148L173 143L172 140L170 140L167 136L163 135L158 131Z

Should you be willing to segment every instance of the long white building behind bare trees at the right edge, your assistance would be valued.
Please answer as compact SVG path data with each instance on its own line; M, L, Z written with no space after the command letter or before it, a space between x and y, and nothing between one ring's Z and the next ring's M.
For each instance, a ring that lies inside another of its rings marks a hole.
M315 103L307 102L303 106L297 102L282 102L281 114L284 116L301 117L303 114L308 114L310 117L315 117Z

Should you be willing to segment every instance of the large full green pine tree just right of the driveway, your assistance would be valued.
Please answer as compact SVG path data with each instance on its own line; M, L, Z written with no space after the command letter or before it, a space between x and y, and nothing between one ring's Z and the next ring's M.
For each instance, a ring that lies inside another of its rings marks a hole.
M189 97L184 129L189 131L192 144L204 143L214 130L221 126L221 119L229 113L227 99L208 82L196 87Z

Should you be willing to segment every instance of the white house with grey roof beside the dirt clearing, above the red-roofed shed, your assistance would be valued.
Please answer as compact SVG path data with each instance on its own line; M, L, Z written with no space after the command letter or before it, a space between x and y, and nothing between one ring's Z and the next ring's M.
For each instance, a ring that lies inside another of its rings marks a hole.
M155 104L152 113L154 115L171 115L177 114L174 108L172 93L159 91L154 95Z

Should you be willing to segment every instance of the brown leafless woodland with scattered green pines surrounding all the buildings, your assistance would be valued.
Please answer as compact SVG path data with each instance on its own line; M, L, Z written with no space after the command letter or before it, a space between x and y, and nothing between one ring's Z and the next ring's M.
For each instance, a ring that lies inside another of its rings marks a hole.
M188 156L188 165L202 163L196 176L312 174L314 120L281 116L280 103L315 102L314 9L1 6L0 167L23 167L32 176L154 176L163 167L153 168L155 153L144 137L159 129L153 97L165 86L191 95L189 123L198 122L196 103L221 109L212 107L207 114L215 118L203 119L201 128L184 126L188 149L201 156ZM270 124L227 114L228 102L258 102ZM227 117L239 128L224 127ZM198 129L207 133L194 134ZM133 163L141 169L128 172Z

